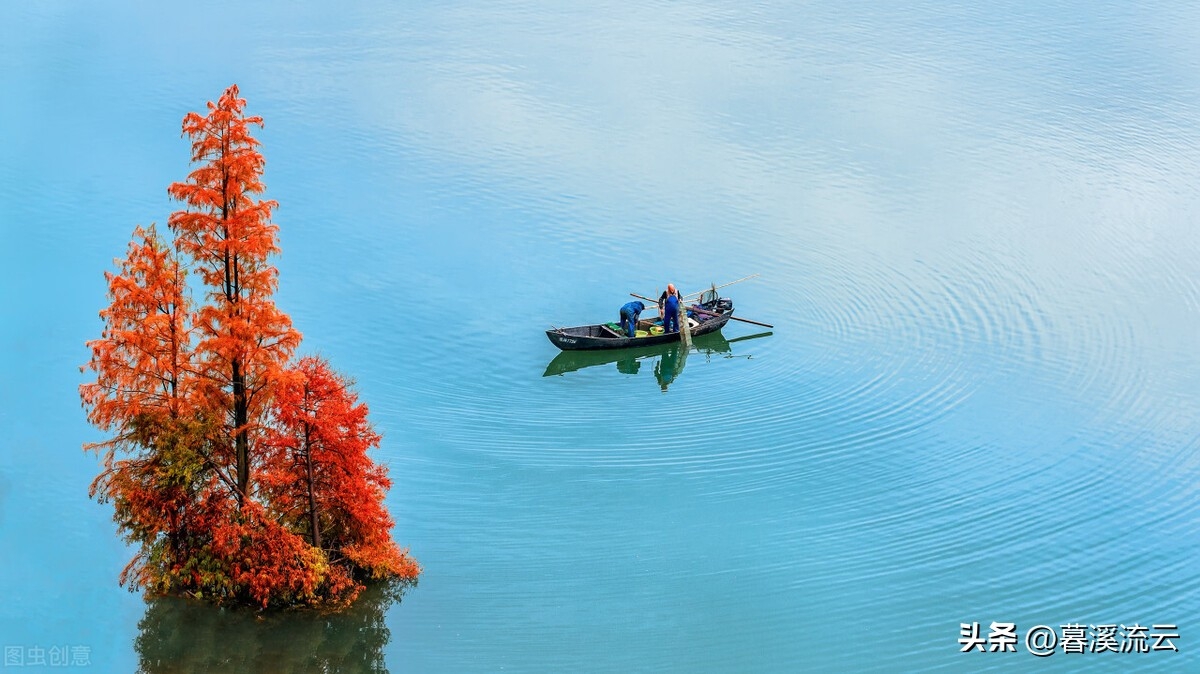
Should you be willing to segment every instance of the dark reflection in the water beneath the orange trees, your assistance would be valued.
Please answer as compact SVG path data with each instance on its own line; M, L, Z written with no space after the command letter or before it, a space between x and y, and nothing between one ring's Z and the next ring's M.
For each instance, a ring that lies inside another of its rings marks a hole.
M409 584L367 588L338 613L258 613L180 597L148 602L134 640L138 672L388 672L384 615Z

